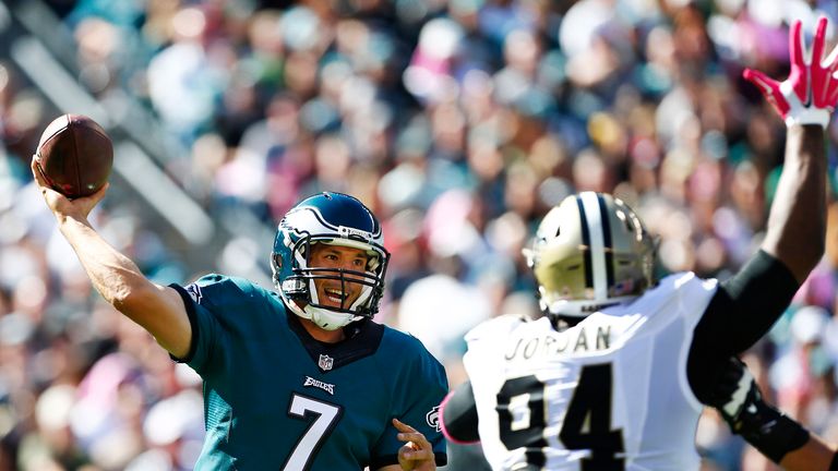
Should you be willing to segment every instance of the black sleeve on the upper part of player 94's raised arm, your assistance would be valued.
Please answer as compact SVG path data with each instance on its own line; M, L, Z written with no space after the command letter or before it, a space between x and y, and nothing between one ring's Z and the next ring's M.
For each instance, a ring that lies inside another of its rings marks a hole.
M698 399L707 398L717 366L768 333L798 288L789 268L762 250L721 282L695 327L690 349L687 378Z

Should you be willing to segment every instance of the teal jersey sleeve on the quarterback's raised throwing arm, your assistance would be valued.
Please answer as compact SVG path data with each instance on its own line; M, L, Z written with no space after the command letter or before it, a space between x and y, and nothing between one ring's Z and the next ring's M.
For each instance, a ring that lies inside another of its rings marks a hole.
M187 363L200 375L213 363L215 349L223 348L227 321L252 299L249 282L223 275L206 275L187 286L171 285L181 299L192 327L189 353L178 362Z

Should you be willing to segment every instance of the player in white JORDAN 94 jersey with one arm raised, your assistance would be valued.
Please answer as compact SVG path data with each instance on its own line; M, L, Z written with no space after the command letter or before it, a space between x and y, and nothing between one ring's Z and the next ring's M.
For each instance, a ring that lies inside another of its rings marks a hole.
M758 340L824 250L825 129L838 98L826 20L811 53L790 33L792 72L757 84L787 124L786 157L765 239L719 282L651 279L655 244L608 194L571 195L525 251L544 316L502 316L467 334L470 383L443 402L451 439L482 443L495 470L697 470L695 428L729 359ZM789 418L749 438L774 461L812 439ZM770 439L761 434L770 433Z

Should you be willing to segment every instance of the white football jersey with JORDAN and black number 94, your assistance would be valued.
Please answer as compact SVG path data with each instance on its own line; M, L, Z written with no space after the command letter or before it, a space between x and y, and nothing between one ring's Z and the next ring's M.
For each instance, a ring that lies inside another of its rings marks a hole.
M716 288L682 273L562 333L515 316L469 331L464 362L492 468L697 470L702 404L686 360Z

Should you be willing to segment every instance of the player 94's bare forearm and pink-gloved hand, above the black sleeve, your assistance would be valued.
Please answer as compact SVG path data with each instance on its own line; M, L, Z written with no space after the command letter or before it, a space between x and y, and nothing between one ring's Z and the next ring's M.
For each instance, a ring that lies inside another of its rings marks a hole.
M804 52L800 21L792 24L789 34L791 72L782 83L751 69L743 74L759 87L788 128L782 173L762 249L782 262L798 282L806 279L824 253L824 130L838 101L838 77L835 76L838 48L824 57L826 27L827 20L821 17L810 56Z

